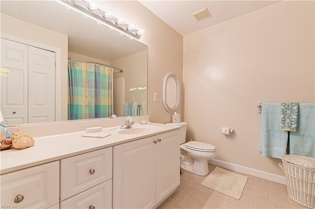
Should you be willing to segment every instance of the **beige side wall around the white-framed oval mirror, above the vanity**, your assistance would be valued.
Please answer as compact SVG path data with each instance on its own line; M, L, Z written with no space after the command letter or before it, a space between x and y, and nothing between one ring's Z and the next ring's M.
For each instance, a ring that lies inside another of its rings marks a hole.
M162 85L164 76L169 72L175 73L183 84L183 36L138 1L99 1L98 5L104 10L113 8L116 17L122 15L126 22L133 22L136 28L144 29L144 34L139 41L148 45L147 90L150 121L171 122L172 114L164 109L162 103ZM153 101L154 93L158 93L158 102ZM183 104L182 98L178 113L183 113Z

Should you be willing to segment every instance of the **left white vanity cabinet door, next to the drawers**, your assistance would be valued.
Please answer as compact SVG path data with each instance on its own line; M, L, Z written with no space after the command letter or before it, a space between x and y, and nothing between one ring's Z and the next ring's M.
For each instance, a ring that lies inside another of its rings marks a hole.
M113 208L155 206L155 144L153 137L114 146Z

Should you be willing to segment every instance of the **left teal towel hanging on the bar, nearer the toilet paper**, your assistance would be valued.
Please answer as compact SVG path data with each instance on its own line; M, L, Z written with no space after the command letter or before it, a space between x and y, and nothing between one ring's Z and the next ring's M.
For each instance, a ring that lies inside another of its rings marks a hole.
M281 131L281 105L261 104L259 151L263 157L281 158L286 154L287 131Z

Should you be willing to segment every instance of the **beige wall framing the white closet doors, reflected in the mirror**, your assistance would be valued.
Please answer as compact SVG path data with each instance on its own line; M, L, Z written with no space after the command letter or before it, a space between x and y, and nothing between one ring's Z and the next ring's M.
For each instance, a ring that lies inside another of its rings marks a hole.
M67 54L68 54L68 36L38 27L7 15L1 14L1 33L6 33L30 41L46 44L61 49L61 83L62 83L62 120L68 118L68 70L67 70Z

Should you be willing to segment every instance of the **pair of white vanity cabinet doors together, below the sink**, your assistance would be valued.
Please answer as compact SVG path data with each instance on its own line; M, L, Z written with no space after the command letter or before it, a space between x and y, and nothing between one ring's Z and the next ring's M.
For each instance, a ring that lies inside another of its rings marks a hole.
M154 208L180 183L178 130L113 148L113 208Z

